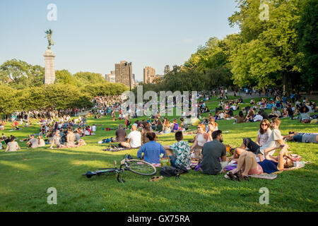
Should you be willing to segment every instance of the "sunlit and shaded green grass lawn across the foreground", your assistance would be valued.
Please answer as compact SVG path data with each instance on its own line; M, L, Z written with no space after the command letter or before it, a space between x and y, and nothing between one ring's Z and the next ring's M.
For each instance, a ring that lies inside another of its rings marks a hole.
M245 100L249 102L249 100ZM208 107L216 107L212 100ZM211 108L212 109L212 108ZM235 112L237 114L237 111ZM206 114L207 115L207 114ZM204 115L205 116L205 115ZM172 117L170 117L172 118ZM134 119L132 120L134 122ZM88 124L105 127L118 126L124 121L110 117L88 119ZM233 120L218 121L225 144L239 146L242 138L256 139L259 123L235 124ZM13 134L18 141L30 133L38 133L33 125L20 131L0 131ZM317 125L300 124L298 120L282 119L283 135L288 131L317 132ZM127 131L129 133L129 131ZM149 182L149 177L124 172L125 184L119 184L114 175L81 176L88 170L113 167L126 153L136 157L137 150L117 153L105 152L103 138L114 136L114 131L103 131L98 126L95 136L85 137L87 145L80 148L28 150L26 143L18 142L22 150L4 153L0 150L0 211L317 211L317 144L289 142L290 150L310 161L302 169L282 172L273 180L249 179L232 182L224 174L206 175L190 170L179 179L165 177ZM193 136L185 136L185 139ZM171 144L174 134L158 137L158 142ZM159 175L159 173L157 173ZM47 204L47 189L57 189L57 205ZM269 189L269 205L259 204L259 189Z

